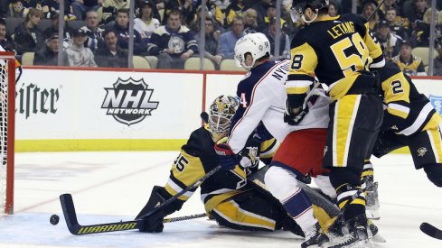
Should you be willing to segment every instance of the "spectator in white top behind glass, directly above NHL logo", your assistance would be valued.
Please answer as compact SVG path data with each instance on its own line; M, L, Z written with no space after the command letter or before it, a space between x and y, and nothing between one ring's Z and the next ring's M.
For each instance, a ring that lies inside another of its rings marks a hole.
M160 26L160 21L153 18L154 2L144 0L140 4L138 17L134 20L134 29L140 33L141 39L147 43L156 28Z

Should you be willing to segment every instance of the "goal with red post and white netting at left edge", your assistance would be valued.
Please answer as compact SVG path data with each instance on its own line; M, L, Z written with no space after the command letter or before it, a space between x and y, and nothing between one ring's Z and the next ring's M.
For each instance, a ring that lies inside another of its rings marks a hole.
M14 213L15 57L0 52L0 209Z

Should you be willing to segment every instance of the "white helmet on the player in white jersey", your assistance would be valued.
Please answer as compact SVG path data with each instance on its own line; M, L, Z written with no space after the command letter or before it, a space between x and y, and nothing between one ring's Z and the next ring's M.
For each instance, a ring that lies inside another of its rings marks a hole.
M253 61L250 66L246 66L246 54L250 53ZM270 56L270 41L262 32L248 33L241 37L235 45L235 61L237 66L244 69L251 69L256 60L264 56Z

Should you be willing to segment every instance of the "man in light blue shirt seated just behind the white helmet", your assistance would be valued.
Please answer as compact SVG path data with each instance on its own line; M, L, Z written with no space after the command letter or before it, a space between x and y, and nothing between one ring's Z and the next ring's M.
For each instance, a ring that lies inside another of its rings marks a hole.
M244 32L244 19L242 17L235 16L230 26L231 31L221 33L218 40L218 51L220 51L220 55L224 59L233 59L236 41L246 35L246 32Z

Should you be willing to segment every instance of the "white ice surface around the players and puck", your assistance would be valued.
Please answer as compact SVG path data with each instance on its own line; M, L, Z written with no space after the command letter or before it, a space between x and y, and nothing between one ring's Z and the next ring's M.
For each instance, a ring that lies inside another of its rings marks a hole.
M0 216L0 247L300 247L288 232L240 232L206 218L165 224L161 234L136 230L75 236L62 217L59 196L71 193L81 225L131 220L154 185L164 185L177 152L33 152L15 155L14 215ZM380 182L381 220L387 243L374 247L436 248L442 241L419 231L442 227L441 188L409 155L373 160ZM203 213L199 191L173 216ZM51 225L50 216L61 216Z

